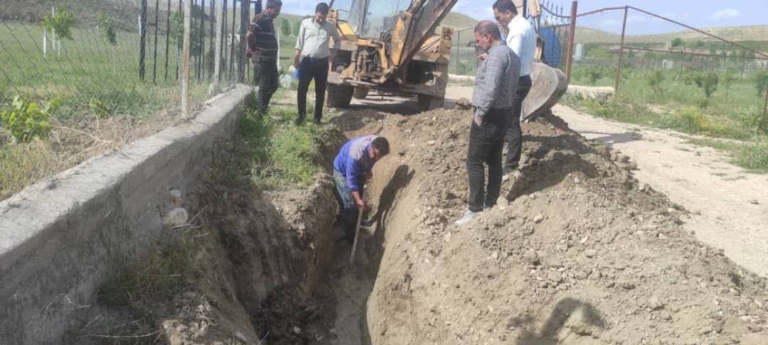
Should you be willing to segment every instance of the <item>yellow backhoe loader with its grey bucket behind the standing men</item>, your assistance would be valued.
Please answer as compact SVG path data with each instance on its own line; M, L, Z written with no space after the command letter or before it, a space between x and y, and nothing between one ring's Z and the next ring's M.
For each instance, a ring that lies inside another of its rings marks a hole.
M442 27L439 33L435 31L456 2L331 1L328 19L336 25L342 42L329 72L329 107L349 106L353 97L364 99L370 90L415 96L422 110L442 107L453 29ZM541 55L541 51L537 53ZM559 70L541 63L536 63L533 70L534 85L524 104L526 116L548 110L568 85Z

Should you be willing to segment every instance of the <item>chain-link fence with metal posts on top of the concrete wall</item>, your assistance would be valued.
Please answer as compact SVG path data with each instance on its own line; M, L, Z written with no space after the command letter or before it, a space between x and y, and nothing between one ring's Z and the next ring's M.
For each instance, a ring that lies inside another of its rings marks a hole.
M2 2L0 200L183 121L211 91L251 83L244 33L259 7L249 0Z

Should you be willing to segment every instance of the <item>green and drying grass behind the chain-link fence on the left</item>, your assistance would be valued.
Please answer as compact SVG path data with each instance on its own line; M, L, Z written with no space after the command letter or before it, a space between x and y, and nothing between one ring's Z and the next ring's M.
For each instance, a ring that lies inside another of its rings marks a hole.
M10 107L10 101L17 94L38 104L58 98L62 107L58 113L51 114L51 120L79 129L88 127L85 125L88 121L104 117L104 113L94 113L91 104L99 104L107 116L131 117L135 120L133 123L151 121L162 110L179 107L173 43L168 61L169 78L164 80L164 36L159 36L157 44L157 84L152 83L154 40L147 44L147 74L141 81L136 33L118 31L118 44L114 47L101 31L90 25L74 28L72 36L74 40L62 41L60 54L49 47L45 58L41 28L29 23L0 23L0 111ZM208 97L208 82L197 81L194 74L192 77L190 100L197 105ZM130 130L130 127L121 128L111 133ZM56 145L42 141L0 146L0 200L71 166L61 162L71 159L72 151L81 152L87 147L68 147L71 142L67 139L48 139L61 140Z

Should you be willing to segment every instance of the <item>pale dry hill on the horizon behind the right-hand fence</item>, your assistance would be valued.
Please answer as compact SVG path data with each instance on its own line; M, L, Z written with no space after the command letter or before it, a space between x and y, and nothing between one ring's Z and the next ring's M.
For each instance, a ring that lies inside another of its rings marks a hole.
M768 41L768 25L705 28L702 31L729 41ZM660 35L627 35L624 41L628 43L667 43L675 38L681 38L684 41L717 41L710 36L690 30ZM621 42L621 35L594 28L578 27L575 39L577 43L617 44Z

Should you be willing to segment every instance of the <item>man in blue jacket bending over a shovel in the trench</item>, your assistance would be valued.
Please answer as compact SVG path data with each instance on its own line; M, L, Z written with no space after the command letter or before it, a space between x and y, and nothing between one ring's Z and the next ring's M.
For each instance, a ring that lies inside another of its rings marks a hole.
M354 231L358 212L366 210L366 201L362 199L366 179L373 177L373 165L388 154L386 138L361 136L344 144L333 160L333 180L339 192L341 221L347 236Z

